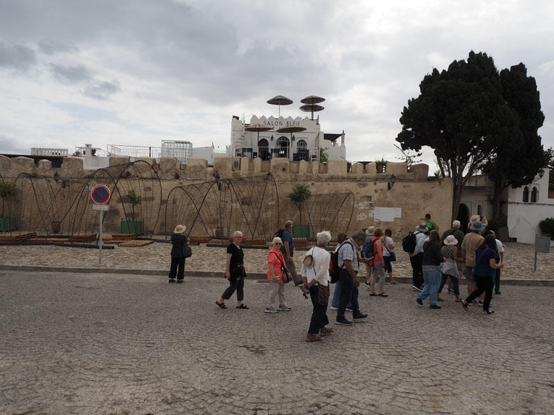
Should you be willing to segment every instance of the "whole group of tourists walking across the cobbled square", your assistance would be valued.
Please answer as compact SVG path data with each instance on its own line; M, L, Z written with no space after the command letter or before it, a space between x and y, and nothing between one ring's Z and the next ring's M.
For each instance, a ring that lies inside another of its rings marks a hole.
M460 222L454 221L452 229L440 237L431 216L427 214L425 219L409 235L413 239L413 248L408 251L413 269L412 288L419 291L416 302L422 306L427 299L429 308L440 308L438 302L443 301L440 294L449 282L456 295L456 302L460 302L465 310L468 304L483 304L483 313L494 313L490 310L492 288L495 286L496 293L500 294L500 268L503 267L502 244L495 238L494 232L483 233L483 221L479 216L472 216L469 234L463 234L459 229ZM184 225L177 225L171 237L170 283L183 281L185 252L188 248L185 231ZM225 277L229 280L229 287L215 301L220 308L227 308L225 301L236 292L236 308L249 309L243 302L246 271L242 237L242 232L235 231L227 246ZM350 238L340 233L332 255L328 252L331 239L330 232L326 230L316 234L316 246L305 253L298 275L293 261L292 221L287 221L283 230L277 232L271 240L267 255L269 295L265 313L290 311L291 307L285 298L285 284L292 281L295 286L300 286L305 297L309 295L312 301L312 316L305 339L307 342L321 341L333 332L328 327L327 315L331 282L336 284L330 308L337 311L336 323L347 326L368 317L359 309L360 266L366 268L364 286L372 297L388 297L384 292L387 274L391 284L397 284L392 270L396 255L391 229L383 231L382 228L370 226L364 232L354 232ZM406 250L404 241L403 248ZM330 272L334 274L332 277ZM458 279L464 274L469 295L461 299ZM352 320L346 318L347 310L352 312Z

